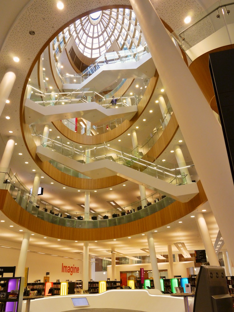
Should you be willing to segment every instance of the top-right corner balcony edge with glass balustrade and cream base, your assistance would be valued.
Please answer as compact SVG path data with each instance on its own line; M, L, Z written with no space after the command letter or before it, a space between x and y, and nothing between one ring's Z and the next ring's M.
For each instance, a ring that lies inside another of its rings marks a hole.
M172 33L193 61L217 47L234 43L234 2L220 1L193 17L189 26Z

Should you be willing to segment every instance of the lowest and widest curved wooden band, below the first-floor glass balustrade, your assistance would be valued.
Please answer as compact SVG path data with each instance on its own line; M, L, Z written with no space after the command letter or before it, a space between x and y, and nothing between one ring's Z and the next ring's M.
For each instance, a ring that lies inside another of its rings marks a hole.
M79 229L43 221L21 208L7 190L0 190L0 210L16 224L41 235L73 241L100 241L148 232L186 216L207 201L201 182L197 184L199 193L189 202L174 202L148 217L115 227Z

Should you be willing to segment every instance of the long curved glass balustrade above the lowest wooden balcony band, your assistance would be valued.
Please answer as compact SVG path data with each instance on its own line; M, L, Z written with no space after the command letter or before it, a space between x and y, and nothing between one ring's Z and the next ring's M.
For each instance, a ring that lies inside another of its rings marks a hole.
M53 224L75 228L100 228L125 224L160 211L175 201L165 195L154 193L141 201L103 212L69 211L32 194L10 168L0 168L0 189L8 190L13 199L33 216Z

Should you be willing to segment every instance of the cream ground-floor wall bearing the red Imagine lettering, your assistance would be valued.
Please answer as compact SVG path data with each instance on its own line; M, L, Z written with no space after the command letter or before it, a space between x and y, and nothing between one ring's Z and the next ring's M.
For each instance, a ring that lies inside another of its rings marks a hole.
M19 250L0 247L0 266L17 266L19 259ZM62 264L65 266L79 267L79 273L70 274L62 272ZM28 270L28 283L33 283L34 280L43 282L46 272L50 272L50 281L56 280L82 280L83 276L83 261L66 259L59 256L42 255L38 253L28 252L26 259L26 267Z

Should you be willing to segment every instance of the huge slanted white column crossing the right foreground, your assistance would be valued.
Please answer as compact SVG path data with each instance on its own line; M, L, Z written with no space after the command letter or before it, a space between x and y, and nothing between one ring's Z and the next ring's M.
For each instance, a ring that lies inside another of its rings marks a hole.
M151 2L130 3L234 262L234 185L221 125Z

